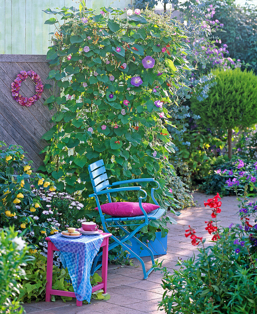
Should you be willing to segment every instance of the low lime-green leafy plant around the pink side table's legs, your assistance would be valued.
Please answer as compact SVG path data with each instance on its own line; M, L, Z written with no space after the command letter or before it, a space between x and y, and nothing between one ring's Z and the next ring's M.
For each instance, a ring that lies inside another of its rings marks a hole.
M34 260L29 261L24 267L24 274L20 276L22 288L18 297L19 301L28 302L45 300L46 287L46 257L40 251L34 254ZM95 273L90 277L92 286L97 282L102 282L102 278ZM67 268L58 268L53 265L53 283L52 289L72 291L71 278ZM71 297L60 296L61 299L72 300ZM96 300L108 300L110 295L103 294L103 290L98 290L92 294L92 298ZM52 301L55 301L55 296L52 296Z

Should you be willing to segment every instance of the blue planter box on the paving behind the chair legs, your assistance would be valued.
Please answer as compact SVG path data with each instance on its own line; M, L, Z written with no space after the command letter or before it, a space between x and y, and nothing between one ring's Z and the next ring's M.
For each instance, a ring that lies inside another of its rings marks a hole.
M167 238L166 235L164 238L161 237L161 232L155 232L156 238L154 241L149 241L148 247L151 249L154 255L164 255L167 254ZM146 249L141 250L140 244L133 239L130 239L132 246L127 245L132 249L138 256L150 256L149 252ZM135 257L134 255L129 255L129 258Z

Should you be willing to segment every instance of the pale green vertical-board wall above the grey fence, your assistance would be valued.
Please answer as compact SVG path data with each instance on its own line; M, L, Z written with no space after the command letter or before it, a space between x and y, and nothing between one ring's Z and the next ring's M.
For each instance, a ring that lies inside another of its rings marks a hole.
M131 0L87 0L87 8L104 6L124 8ZM113 2L113 4L111 4ZM52 25L44 22L52 15L47 8L77 7L74 0L0 0L0 54L46 54Z

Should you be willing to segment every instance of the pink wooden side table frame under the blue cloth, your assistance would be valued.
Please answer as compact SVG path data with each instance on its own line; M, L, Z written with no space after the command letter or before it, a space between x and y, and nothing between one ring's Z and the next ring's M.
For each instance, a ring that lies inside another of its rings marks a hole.
M96 286L92 287L92 292L103 289L106 293L107 289L107 269L108 269L108 246L109 237L111 233L102 233L103 241L100 247L102 247L102 282L98 283ZM75 293L71 291L54 290L52 289L52 278L53 278L53 252L59 251L56 246L51 242L49 237L45 238L48 241L47 247L47 266L46 266L46 295L45 301L51 301L51 295L63 295L76 298ZM82 301L76 302L77 306L82 306Z

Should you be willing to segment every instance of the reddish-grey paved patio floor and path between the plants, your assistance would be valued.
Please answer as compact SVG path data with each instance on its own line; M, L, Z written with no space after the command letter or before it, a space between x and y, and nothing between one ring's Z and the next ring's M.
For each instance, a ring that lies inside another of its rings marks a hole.
M166 255L156 256L159 261L163 260L163 266L170 269L178 269L177 260L191 257L197 248L191 245L190 239L184 236L185 229L191 225L197 236L203 236L210 241L211 236L205 230L206 220L210 220L212 210L204 207L204 201L213 196L199 192L193 194L196 207L181 210L181 215L176 217L177 225L169 225L168 250ZM218 215L219 225L228 227L231 223L239 223L236 215L238 211L237 200L234 196L222 198L221 213ZM174 214L168 214L175 218ZM208 242L206 242L208 243ZM209 242L211 243L211 242ZM146 266L151 265L149 257L143 257ZM164 313L158 310L158 302L162 299L164 290L161 287L162 275L159 270L150 273L148 279L143 279L143 271L138 260L134 260L134 266L109 265L107 293L111 298L108 301L92 300L91 304L76 306L76 299L64 303L62 300L56 302L32 302L25 303L26 313L33 314L157 314ZM139 266L140 265L140 266Z

